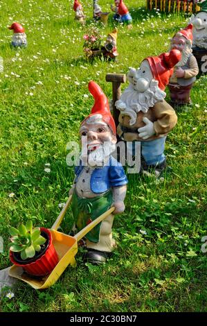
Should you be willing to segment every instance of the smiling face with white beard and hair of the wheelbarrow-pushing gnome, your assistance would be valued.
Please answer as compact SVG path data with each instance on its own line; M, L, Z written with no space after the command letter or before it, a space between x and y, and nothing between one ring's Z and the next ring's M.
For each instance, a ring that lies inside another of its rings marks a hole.
M102 120L101 114L93 114L82 123L80 137L84 164L103 166L116 149L116 136Z

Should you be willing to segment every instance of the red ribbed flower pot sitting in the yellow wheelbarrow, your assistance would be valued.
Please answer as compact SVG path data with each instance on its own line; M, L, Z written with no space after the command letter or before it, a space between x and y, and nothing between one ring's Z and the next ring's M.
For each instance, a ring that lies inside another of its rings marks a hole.
M53 246L51 232L46 228L40 228L40 230L44 234L44 237L48 238L47 246L40 255L24 261L17 259L15 252L10 250L10 261L17 266L21 266L28 274L35 276L44 276L51 273L58 263L57 252Z

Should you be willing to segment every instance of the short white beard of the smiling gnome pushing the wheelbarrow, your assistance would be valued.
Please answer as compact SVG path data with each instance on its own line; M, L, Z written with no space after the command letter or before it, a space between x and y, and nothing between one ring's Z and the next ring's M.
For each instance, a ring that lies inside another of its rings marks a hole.
M84 164L89 166L104 166L109 160L109 155L116 150L116 144L112 144L109 141L106 141L104 144L100 144L98 148L91 153L84 154L81 153L81 159Z

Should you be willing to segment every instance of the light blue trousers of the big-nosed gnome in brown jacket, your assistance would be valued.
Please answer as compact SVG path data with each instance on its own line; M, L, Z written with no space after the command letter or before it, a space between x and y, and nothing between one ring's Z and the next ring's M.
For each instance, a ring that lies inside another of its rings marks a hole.
M165 160L165 137L150 141L141 141L141 154L143 155L147 165L161 164ZM132 142L132 155L135 155L135 141ZM129 148L128 148L129 149Z

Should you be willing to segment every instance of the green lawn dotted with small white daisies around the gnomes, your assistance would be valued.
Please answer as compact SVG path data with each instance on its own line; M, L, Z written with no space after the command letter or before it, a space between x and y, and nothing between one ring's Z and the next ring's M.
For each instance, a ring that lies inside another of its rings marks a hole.
M99 1L103 10L111 2ZM50 228L58 204L68 196L74 173L66 166L66 144L78 141L80 121L93 105L91 96L83 96L89 95L88 81L95 80L111 98L105 75L127 73L146 56L168 51L170 37L188 21L183 15L146 12L143 1L126 3L134 28L118 30L118 62L91 64L82 51L91 20L84 27L75 22L69 1L0 2L1 268L10 266L8 225L32 218L35 225ZM82 4L92 17L92 1ZM25 25L28 37L28 47L19 51L10 48L7 29L15 21ZM110 17L102 34L112 27ZM114 223L118 248L107 264L85 266L79 250L77 267L69 266L51 288L35 291L19 282L14 298L0 299L0 311L207 311L207 254L201 252L201 238L207 235L206 85L206 76L197 79L192 109L178 112L165 150L172 172L164 182L129 175L126 210ZM44 171L46 163L51 173ZM72 223L69 212L64 232Z

